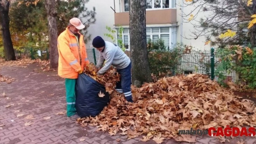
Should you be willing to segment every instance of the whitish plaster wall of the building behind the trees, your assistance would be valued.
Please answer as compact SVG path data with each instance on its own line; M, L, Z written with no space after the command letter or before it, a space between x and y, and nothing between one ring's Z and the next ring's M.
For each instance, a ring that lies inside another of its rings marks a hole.
M183 23L182 23L182 10L185 14L189 14L191 10L195 8L194 5L187 6L182 9L182 3L184 0L176 0L176 10L177 15L176 19L178 21L177 25L177 36L176 40L177 43L183 43L186 45L191 45L192 47L195 47L199 50L210 50L211 45L205 45L206 38L204 36L197 38L196 40L193 39L195 37L190 36L193 35L192 32L194 31L193 25L191 23L196 23L195 20L192 20L191 22L188 22L188 18L184 17ZM186 2L185 2L186 3ZM95 36L102 36L103 39L113 42L110 38L107 38L104 36L105 33L110 33L107 31L106 26L110 26L112 29L115 28L115 12L110 8L110 6L114 9L117 13L124 12L124 6L123 6L123 0L115 0L115 6L114 6L114 0L101 0L101 3L98 1L90 0L89 3L86 4L86 7L90 10L95 6L96 8L96 22L95 24L91 24L88 32L91 34L91 40L86 44L86 47L91 47L91 42ZM154 11L154 10L152 10ZM192 14L196 14L195 12ZM197 21L199 21L200 18L208 16L210 13L207 12L200 12L197 17L194 17ZM166 24L153 24L153 25L147 25L147 27L158 27L158 26L165 26ZM127 27L123 26L123 27ZM186 38L183 38L186 37Z

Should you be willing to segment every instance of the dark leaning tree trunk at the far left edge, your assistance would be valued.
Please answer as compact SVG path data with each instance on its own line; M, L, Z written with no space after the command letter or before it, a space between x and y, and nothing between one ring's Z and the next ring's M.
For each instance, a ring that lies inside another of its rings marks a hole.
M10 36L10 29L9 29L9 6L10 1L4 0L0 3L0 24L2 30L2 38L4 43L4 59L5 61L16 60L13 45L12 45L12 38Z

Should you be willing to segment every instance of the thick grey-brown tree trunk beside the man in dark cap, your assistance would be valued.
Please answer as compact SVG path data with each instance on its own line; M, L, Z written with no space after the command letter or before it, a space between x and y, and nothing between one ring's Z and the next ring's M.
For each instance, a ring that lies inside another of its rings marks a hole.
M132 84L152 82L146 42L146 0L129 0Z

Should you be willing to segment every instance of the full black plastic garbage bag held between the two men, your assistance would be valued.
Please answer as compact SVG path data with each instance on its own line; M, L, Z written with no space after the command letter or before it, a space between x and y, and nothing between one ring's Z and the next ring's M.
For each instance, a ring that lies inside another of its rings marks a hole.
M104 97L98 94L104 93ZM95 117L110 102L109 93L106 88L93 78L82 73L76 80L76 111L82 117Z

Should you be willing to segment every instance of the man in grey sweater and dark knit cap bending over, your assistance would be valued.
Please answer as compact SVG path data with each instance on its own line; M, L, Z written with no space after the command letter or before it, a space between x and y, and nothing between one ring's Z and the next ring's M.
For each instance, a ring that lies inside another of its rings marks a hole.
M131 91L131 59L121 50L121 48L111 42L104 41L100 36L93 39L93 47L96 48L100 57L96 67L102 67L104 61L105 65L98 71L98 75L104 74L111 65L116 67L118 73L121 75L121 80L116 84L116 91L124 93L125 99L129 102L132 100Z

